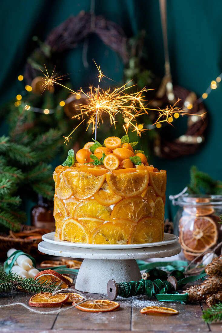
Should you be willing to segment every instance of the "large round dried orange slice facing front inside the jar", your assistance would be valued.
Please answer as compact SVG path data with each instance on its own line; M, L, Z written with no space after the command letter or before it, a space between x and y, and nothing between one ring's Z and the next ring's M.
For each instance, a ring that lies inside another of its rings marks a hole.
M217 239L217 225L210 217L190 217L181 227L180 242L188 251L201 253L215 245Z

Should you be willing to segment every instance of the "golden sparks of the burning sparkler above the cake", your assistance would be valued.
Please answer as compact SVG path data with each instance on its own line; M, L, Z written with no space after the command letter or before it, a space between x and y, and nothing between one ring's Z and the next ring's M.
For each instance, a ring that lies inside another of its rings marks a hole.
M100 83L102 78L106 76L101 71L100 66L96 65L96 67L99 72L98 79ZM79 95L79 92L76 93L72 89L59 83L58 80L61 80L62 76L56 77L56 75L54 74L54 70L51 76L49 76L47 69L46 69L46 74L42 71L43 74L45 75L45 77L43 78L44 90L46 88L51 88L54 84L58 84L68 89L71 93ZM87 119L88 126L86 131L91 125L92 132L93 133L95 132L95 140L96 140L97 127L104 122L104 116L108 116L110 121L110 126L113 125L116 128L115 118L117 114L120 114L124 118L124 121L126 122L125 126L123 126L126 134L128 134L129 129L131 129L132 132L136 132L138 136L141 136L141 133L147 131L148 129L145 129L143 127L143 124L138 124L137 120L140 116L144 114L148 115L148 110L158 111L159 113L157 121L153 125L163 122L172 125L171 122L173 121L172 118L173 115L175 118L178 118L179 115L185 115L185 114L192 115L188 114L186 110L181 110L177 106L179 100L173 106L170 105L164 110L147 108L144 106L144 102L146 102L146 100L144 99L145 98L144 93L152 89L144 88L138 92L131 93L129 91L135 85L128 86L128 84L129 82L127 84L122 85L121 87L113 89L108 88L107 90L101 89L100 86L98 85L97 88L89 87L89 91L87 93L85 93L81 88L80 92L86 96L88 104L77 105L77 107L80 108L80 113L73 116L72 118L80 119L81 117L82 122L80 124L82 124L83 121ZM203 117L203 115L204 114L199 116ZM69 142L69 139L71 139L70 137L71 134L78 128L78 126L69 134L68 137L64 137L65 138L64 143L66 143L66 145L67 142Z

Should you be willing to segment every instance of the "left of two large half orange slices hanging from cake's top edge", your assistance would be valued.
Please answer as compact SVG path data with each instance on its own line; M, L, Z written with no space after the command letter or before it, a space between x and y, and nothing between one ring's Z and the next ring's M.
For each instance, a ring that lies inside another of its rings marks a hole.
M105 174L95 176L86 172L75 172L70 168L62 173L66 185L78 199L86 199L92 196L100 189L106 178Z

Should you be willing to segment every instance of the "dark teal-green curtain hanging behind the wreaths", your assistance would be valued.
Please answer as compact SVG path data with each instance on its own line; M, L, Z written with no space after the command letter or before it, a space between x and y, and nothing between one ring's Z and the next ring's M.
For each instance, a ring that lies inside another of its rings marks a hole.
M17 76L23 72L25 60L35 45L32 36L44 40L48 32L70 15L89 11L90 0L2 0L0 3L0 103L15 97L21 90ZM173 82L201 96L222 71L222 1L168 0L168 37ZM163 76L164 56L158 0L95 0L95 14L117 22L127 36L141 29L147 32L149 68ZM89 40L87 59L82 63L82 46L64 57L64 73L74 88L88 86L96 76L95 59L108 77L120 82L123 65L116 54L99 39ZM210 122L206 141L195 154L178 160L155 159L155 166L167 170L167 197L181 191L189 181L190 166L221 179L222 84L205 101ZM172 127L172 134L174 131ZM0 124L4 133L6 127ZM0 133L0 134L1 134ZM166 216L172 218L175 209L166 201Z

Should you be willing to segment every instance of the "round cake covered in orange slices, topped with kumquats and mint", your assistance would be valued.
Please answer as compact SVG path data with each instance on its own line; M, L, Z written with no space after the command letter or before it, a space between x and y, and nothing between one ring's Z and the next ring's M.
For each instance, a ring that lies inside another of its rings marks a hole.
M92 244L163 240L166 171L147 163L127 136L87 143L57 166L55 236Z

